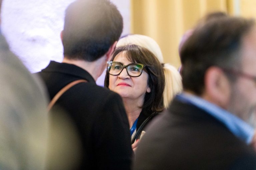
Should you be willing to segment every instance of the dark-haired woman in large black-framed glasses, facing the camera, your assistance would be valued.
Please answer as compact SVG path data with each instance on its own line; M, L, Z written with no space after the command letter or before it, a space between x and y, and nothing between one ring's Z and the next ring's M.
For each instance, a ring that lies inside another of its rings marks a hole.
M131 143L139 139L146 125L164 110L164 86L162 64L152 52L134 44L115 49L108 62L105 87L123 99Z

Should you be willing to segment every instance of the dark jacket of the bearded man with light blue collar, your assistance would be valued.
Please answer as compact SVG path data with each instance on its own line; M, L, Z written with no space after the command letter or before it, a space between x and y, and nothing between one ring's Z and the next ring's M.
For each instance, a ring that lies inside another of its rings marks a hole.
M177 99L153 120L135 158L135 170L256 169L252 147L205 111Z

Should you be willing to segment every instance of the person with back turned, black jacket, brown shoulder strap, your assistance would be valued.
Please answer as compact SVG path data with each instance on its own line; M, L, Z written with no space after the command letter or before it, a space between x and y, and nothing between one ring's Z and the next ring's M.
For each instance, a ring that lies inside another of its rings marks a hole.
M52 109L66 111L79 134L82 155L77 169L130 169L132 149L122 99L95 83L122 29L122 16L109 0L74 1L66 9L61 33L64 59L51 61L39 72L51 101L60 96Z

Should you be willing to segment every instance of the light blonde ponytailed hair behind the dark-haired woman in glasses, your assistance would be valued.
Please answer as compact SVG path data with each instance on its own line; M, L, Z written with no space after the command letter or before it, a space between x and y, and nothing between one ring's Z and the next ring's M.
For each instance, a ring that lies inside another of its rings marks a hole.
M150 50L162 63L164 69L165 88L163 94L164 107L168 108L173 97L182 91L181 76L177 69L169 63L164 63L162 51L157 42L151 37L133 34L120 38L116 46L136 44Z

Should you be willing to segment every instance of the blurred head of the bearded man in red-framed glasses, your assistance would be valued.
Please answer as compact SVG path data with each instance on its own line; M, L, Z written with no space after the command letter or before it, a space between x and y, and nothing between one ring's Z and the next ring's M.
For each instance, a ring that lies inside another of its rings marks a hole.
M256 105L255 46L254 20L221 17L199 25L181 49L184 90L247 120Z

